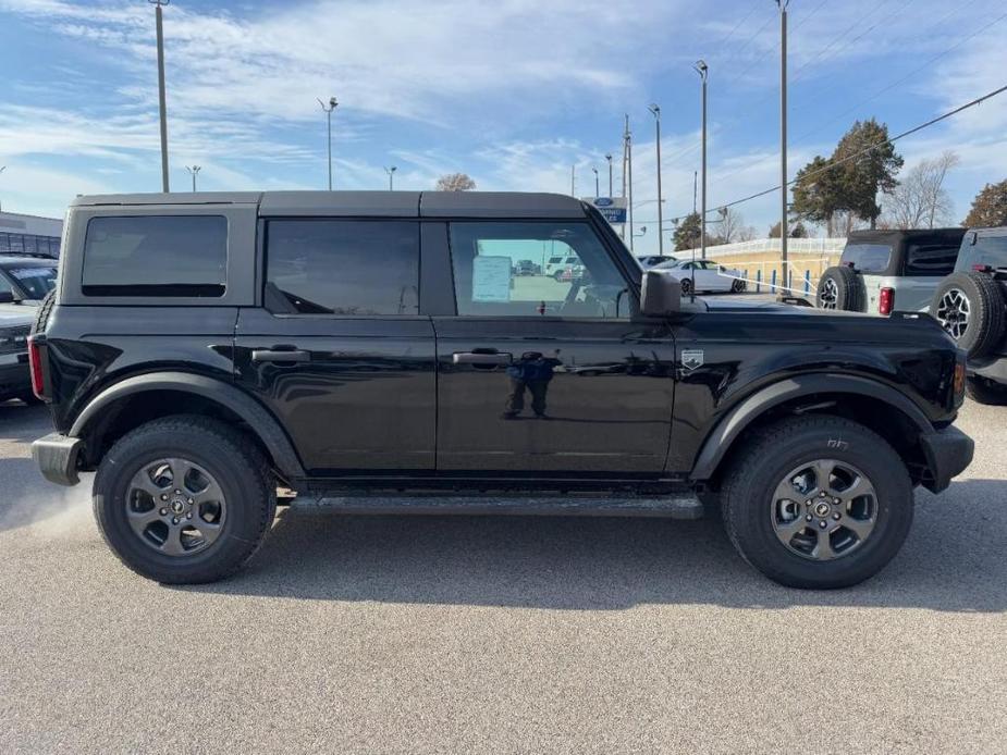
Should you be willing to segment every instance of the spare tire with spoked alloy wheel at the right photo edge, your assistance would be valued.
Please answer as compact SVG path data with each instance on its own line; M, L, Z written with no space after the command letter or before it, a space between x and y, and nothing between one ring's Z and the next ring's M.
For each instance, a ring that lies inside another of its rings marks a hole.
M931 315L969 358L988 354L1004 337L1004 295L983 273L951 273L937 287Z

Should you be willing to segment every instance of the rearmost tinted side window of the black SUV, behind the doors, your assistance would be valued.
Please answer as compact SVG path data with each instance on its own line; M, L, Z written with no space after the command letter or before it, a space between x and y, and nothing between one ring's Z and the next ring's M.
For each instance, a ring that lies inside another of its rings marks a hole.
M93 218L84 243L84 294L223 296L226 264L225 218Z

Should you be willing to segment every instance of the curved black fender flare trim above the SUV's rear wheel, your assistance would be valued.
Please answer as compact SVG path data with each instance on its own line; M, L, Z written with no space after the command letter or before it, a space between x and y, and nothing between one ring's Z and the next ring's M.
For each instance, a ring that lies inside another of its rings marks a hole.
M151 372L126 378L105 388L90 399L70 430L72 437L82 437L87 425L115 401L150 391L176 391L210 399L241 417L269 450L277 468L287 478L306 476L294 446L280 422L261 404L231 383L188 372Z

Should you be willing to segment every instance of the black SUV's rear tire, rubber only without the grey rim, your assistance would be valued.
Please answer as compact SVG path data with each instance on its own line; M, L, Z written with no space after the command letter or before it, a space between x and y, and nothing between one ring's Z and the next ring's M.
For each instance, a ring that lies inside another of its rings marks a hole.
M145 463L181 457L208 470L220 484L228 513L218 540L185 556L158 553L126 520L130 481ZM277 511L275 481L255 444L229 425L179 414L153 420L121 437L105 455L94 484L95 518L119 559L163 584L213 582L237 571L255 555Z

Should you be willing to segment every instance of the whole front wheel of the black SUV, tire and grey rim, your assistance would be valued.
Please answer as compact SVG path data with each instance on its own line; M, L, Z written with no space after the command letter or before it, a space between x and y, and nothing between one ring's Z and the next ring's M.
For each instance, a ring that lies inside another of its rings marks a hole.
M741 556L791 587L848 587L898 553L912 484L880 435L837 417L784 420L748 438L722 486Z

